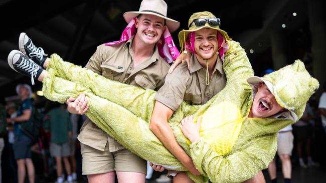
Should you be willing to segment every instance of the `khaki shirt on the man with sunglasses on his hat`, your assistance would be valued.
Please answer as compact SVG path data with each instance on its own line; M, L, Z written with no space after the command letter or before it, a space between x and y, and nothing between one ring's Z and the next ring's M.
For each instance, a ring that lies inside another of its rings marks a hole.
M190 59L191 70L187 64L180 64L168 74L165 84L158 90L155 99L172 110L177 110L183 100L190 104L204 104L226 85L226 76L220 57L215 64L209 85L206 85L206 67L196 55Z

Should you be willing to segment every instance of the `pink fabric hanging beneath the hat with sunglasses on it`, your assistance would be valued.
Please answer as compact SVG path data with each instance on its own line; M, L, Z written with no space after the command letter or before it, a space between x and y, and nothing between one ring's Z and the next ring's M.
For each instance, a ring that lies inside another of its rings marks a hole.
M224 61L224 53L228 51L230 47L225 37L223 37L223 35L219 31L217 31L217 40L218 40L218 51L220 54L220 58L222 59L222 61ZM193 31L189 33L185 47L186 49L189 49L196 54L194 43L195 43L195 32Z

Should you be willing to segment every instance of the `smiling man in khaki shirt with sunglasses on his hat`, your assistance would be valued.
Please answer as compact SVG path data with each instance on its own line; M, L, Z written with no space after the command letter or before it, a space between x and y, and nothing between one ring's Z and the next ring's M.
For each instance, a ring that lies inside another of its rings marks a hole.
M186 64L178 65L167 75L165 84L155 95L150 127L185 167L196 174L192 159L178 144L168 120L183 100L191 104L204 104L225 87L224 54L234 41L226 31L220 29L220 18L209 11L192 14L188 27L188 30L179 32L180 46L188 54L185 57L189 57L191 52L195 54L190 57L189 67ZM156 166L153 168L159 169ZM168 175L174 175L174 182L191 181L185 172L169 171ZM262 180L262 173L259 175L252 182Z

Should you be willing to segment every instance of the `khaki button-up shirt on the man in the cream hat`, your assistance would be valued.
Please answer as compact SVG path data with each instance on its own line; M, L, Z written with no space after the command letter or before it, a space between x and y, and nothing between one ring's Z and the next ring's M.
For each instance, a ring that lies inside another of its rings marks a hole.
M150 58L134 67L132 40L133 37L119 44L97 46L86 67L112 80L158 90L164 84L170 64L159 56L156 46ZM103 151L107 142L110 152L123 148L90 119L84 122L78 139L86 145Z

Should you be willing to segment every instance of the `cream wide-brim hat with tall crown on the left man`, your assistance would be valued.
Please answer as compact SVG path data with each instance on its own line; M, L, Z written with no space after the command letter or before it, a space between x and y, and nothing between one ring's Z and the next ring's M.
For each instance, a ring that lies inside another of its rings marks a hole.
M152 14L161 18L166 19L167 26L170 32L176 31L180 22L167 17L168 5L164 0L142 0L140 3L139 11L127 11L123 13L123 17L127 23L129 23L132 18L138 16L139 14Z

